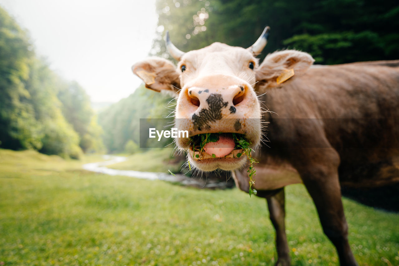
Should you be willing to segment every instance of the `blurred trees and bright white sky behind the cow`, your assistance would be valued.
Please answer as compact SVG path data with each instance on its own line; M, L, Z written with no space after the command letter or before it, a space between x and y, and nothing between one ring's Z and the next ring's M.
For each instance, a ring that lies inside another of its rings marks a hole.
M261 58L279 49L316 64L399 58L396 1L1 0L0 147L79 158L132 152L140 118L169 114L130 66L213 42L249 47L266 25Z

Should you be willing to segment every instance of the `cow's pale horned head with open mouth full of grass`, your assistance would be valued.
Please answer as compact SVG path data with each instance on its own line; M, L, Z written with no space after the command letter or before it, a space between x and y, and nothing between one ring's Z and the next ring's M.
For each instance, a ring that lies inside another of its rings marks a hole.
M157 57L132 66L147 88L178 94L176 127L189 131L189 137L176 139L176 145L188 151L188 160L201 171L234 170L245 165L246 156L240 156L237 136L251 148L261 142L262 111L254 85L257 80L263 87L270 85L270 71L258 66L255 56L267 44L268 36L266 27L247 49L215 42L184 53L170 42L167 33L167 48L178 61L177 68ZM207 133L213 133L216 139L201 147L198 142L209 136Z

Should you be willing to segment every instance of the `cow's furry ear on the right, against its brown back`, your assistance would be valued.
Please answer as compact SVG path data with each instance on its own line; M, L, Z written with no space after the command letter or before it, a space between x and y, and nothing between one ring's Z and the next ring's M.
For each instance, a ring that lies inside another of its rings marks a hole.
M262 91L267 88L282 86L305 73L313 62L314 59L310 54L295 50L269 54L255 70L258 81L256 88Z

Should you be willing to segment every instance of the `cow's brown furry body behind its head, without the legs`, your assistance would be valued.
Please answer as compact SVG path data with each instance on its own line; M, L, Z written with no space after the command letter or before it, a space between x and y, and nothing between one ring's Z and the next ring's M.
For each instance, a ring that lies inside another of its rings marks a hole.
M327 149L337 153L346 186L399 182L398 84L399 60L314 66L267 91L261 101L270 111L263 116L268 142L255 154L255 188L302 183L296 169L306 164L303 153ZM236 179L248 191L246 173Z

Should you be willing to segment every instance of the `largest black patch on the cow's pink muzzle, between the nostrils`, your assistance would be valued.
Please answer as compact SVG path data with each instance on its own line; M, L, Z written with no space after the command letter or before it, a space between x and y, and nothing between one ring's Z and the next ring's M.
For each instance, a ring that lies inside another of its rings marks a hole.
M222 95L217 93L209 95L206 102L209 106L208 109L203 108L199 111L198 115L194 114L192 116L194 127L198 128L198 130L202 130L203 127L205 127L205 129L210 129L209 122L222 119L222 109L228 104L227 101L223 101Z

